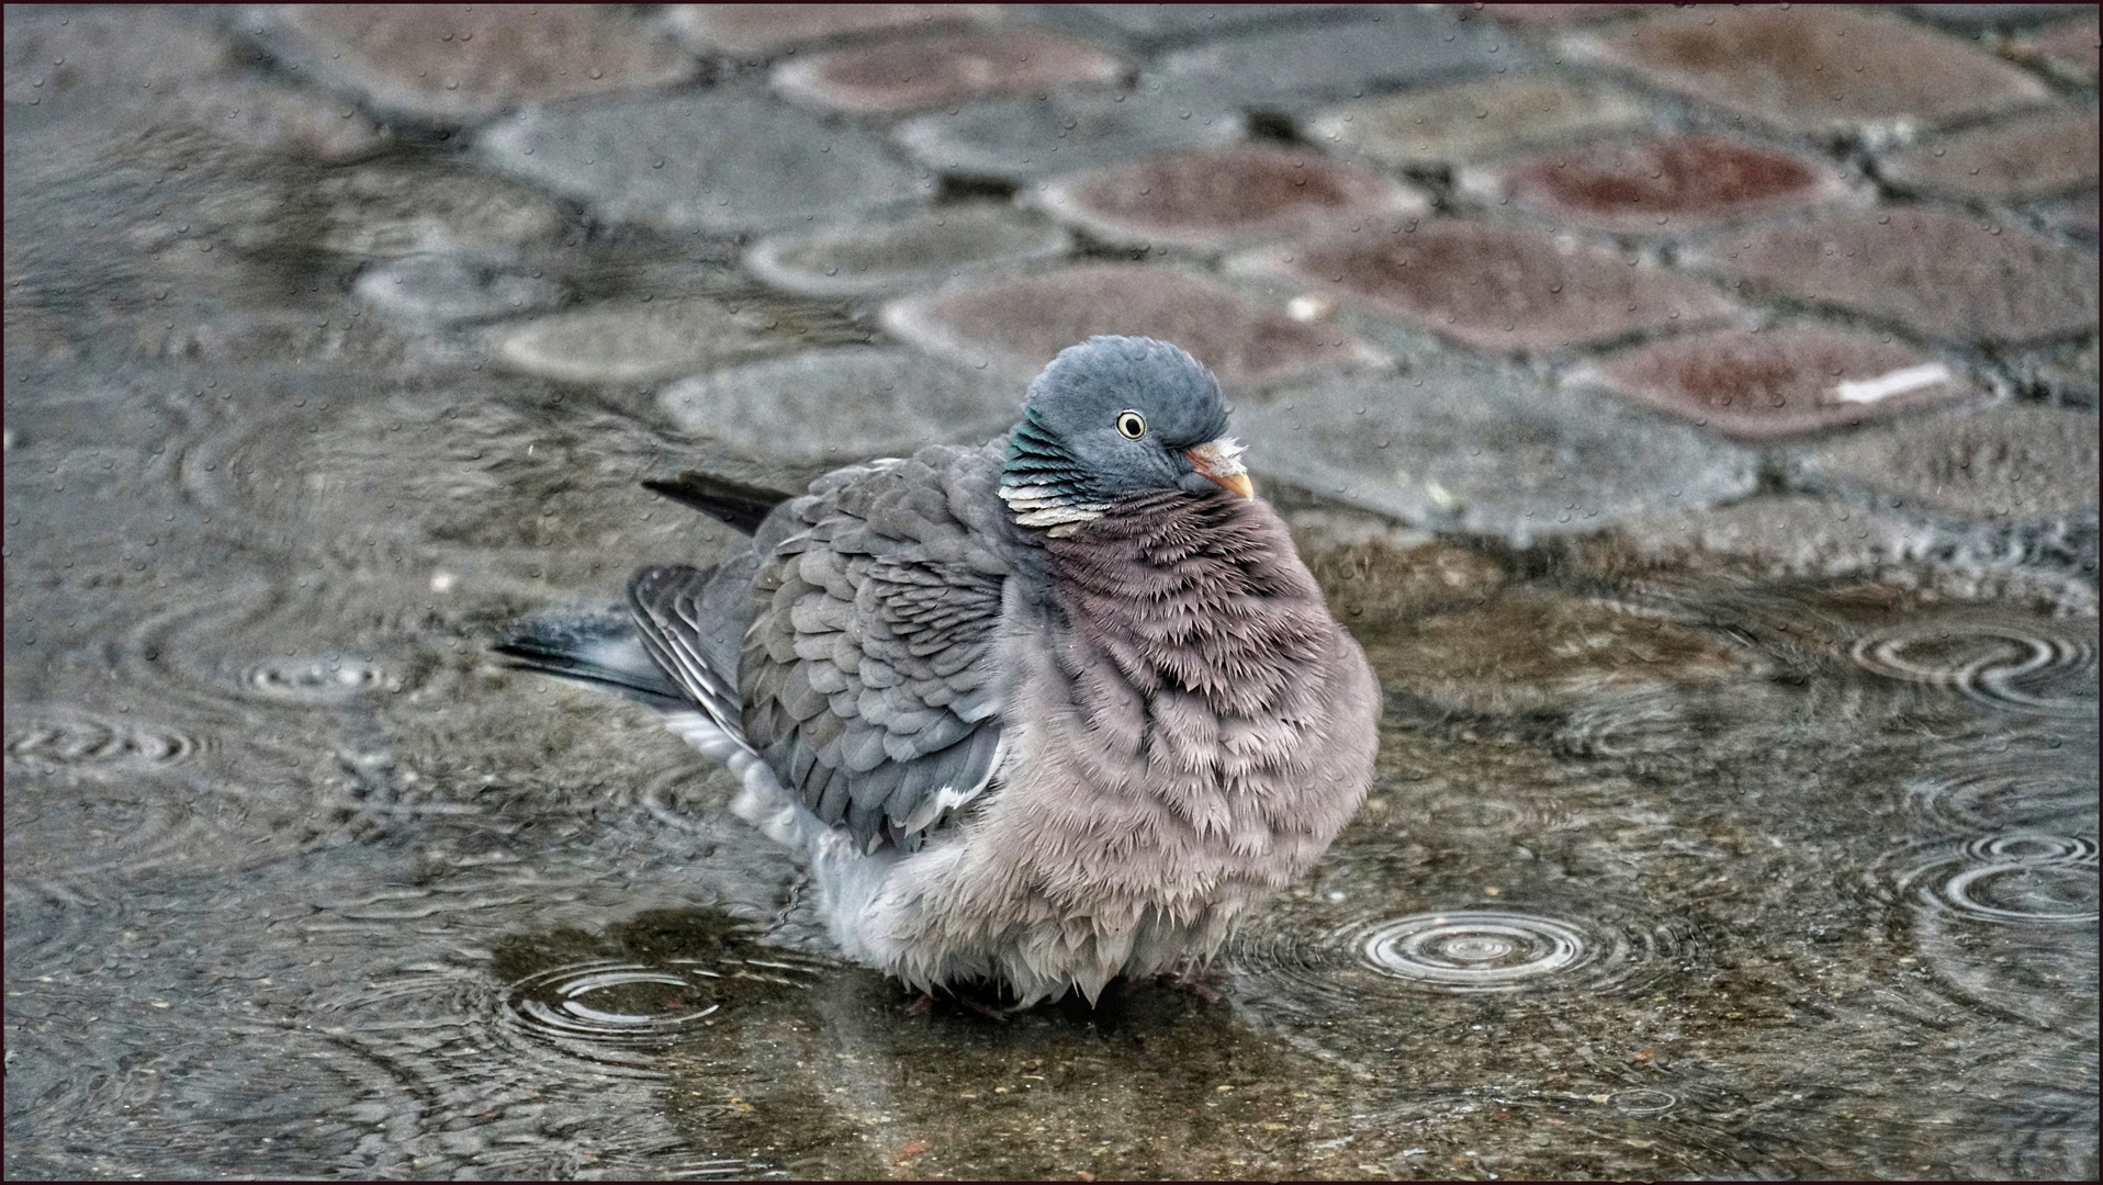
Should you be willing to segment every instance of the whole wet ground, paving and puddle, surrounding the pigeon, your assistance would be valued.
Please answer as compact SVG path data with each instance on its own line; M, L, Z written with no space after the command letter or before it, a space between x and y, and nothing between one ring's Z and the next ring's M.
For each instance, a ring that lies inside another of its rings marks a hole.
M6 1174L2097 1174L2086 6L6 11ZM927 1015L490 643L1094 332L1384 685Z

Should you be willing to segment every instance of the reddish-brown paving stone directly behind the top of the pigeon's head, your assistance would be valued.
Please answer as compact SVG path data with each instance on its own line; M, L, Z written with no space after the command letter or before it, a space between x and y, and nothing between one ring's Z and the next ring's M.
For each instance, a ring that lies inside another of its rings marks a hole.
M1066 267L1026 279L951 288L898 300L883 326L904 340L974 366L1037 374L1073 342L1138 334L1176 342L1228 387L1262 387L1386 361L1333 328L1293 321L1232 288L1123 263Z

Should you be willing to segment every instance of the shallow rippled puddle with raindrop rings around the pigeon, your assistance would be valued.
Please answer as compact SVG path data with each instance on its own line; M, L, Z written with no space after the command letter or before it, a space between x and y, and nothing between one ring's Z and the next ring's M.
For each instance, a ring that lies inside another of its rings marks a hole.
M1382 677L1365 809L1199 990L915 1009L726 773L490 658L736 546L639 479L824 466L479 334L904 349L877 307L429 130L170 134L8 105L11 1179L2097 1174L2092 525L2002 584L1609 563L1249 441Z

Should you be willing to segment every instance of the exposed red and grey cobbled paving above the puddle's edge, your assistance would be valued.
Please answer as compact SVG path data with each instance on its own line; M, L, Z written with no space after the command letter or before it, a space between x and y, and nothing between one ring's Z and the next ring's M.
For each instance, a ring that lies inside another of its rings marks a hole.
M976 433L1068 338L1159 332L1262 475L1417 525L1743 550L1874 492L1886 542L2021 511L2092 569L2095 61L2048 4L11 11L6 101L332 162L318 231L200 237L307 233L412 340L757 454L942 435L791 431L871 382ZM543 277L593 250L654 254ZM1762 464L1790 513L1727 511Z

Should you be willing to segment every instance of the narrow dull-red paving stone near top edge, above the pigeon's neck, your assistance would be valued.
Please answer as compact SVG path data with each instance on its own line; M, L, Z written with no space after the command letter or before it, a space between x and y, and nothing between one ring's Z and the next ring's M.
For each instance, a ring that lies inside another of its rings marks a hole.
M1058 34L986 29L820 53L776 67L774 86L818 107L890 116L982 95L1110 84L1125 69L1117 57Z

